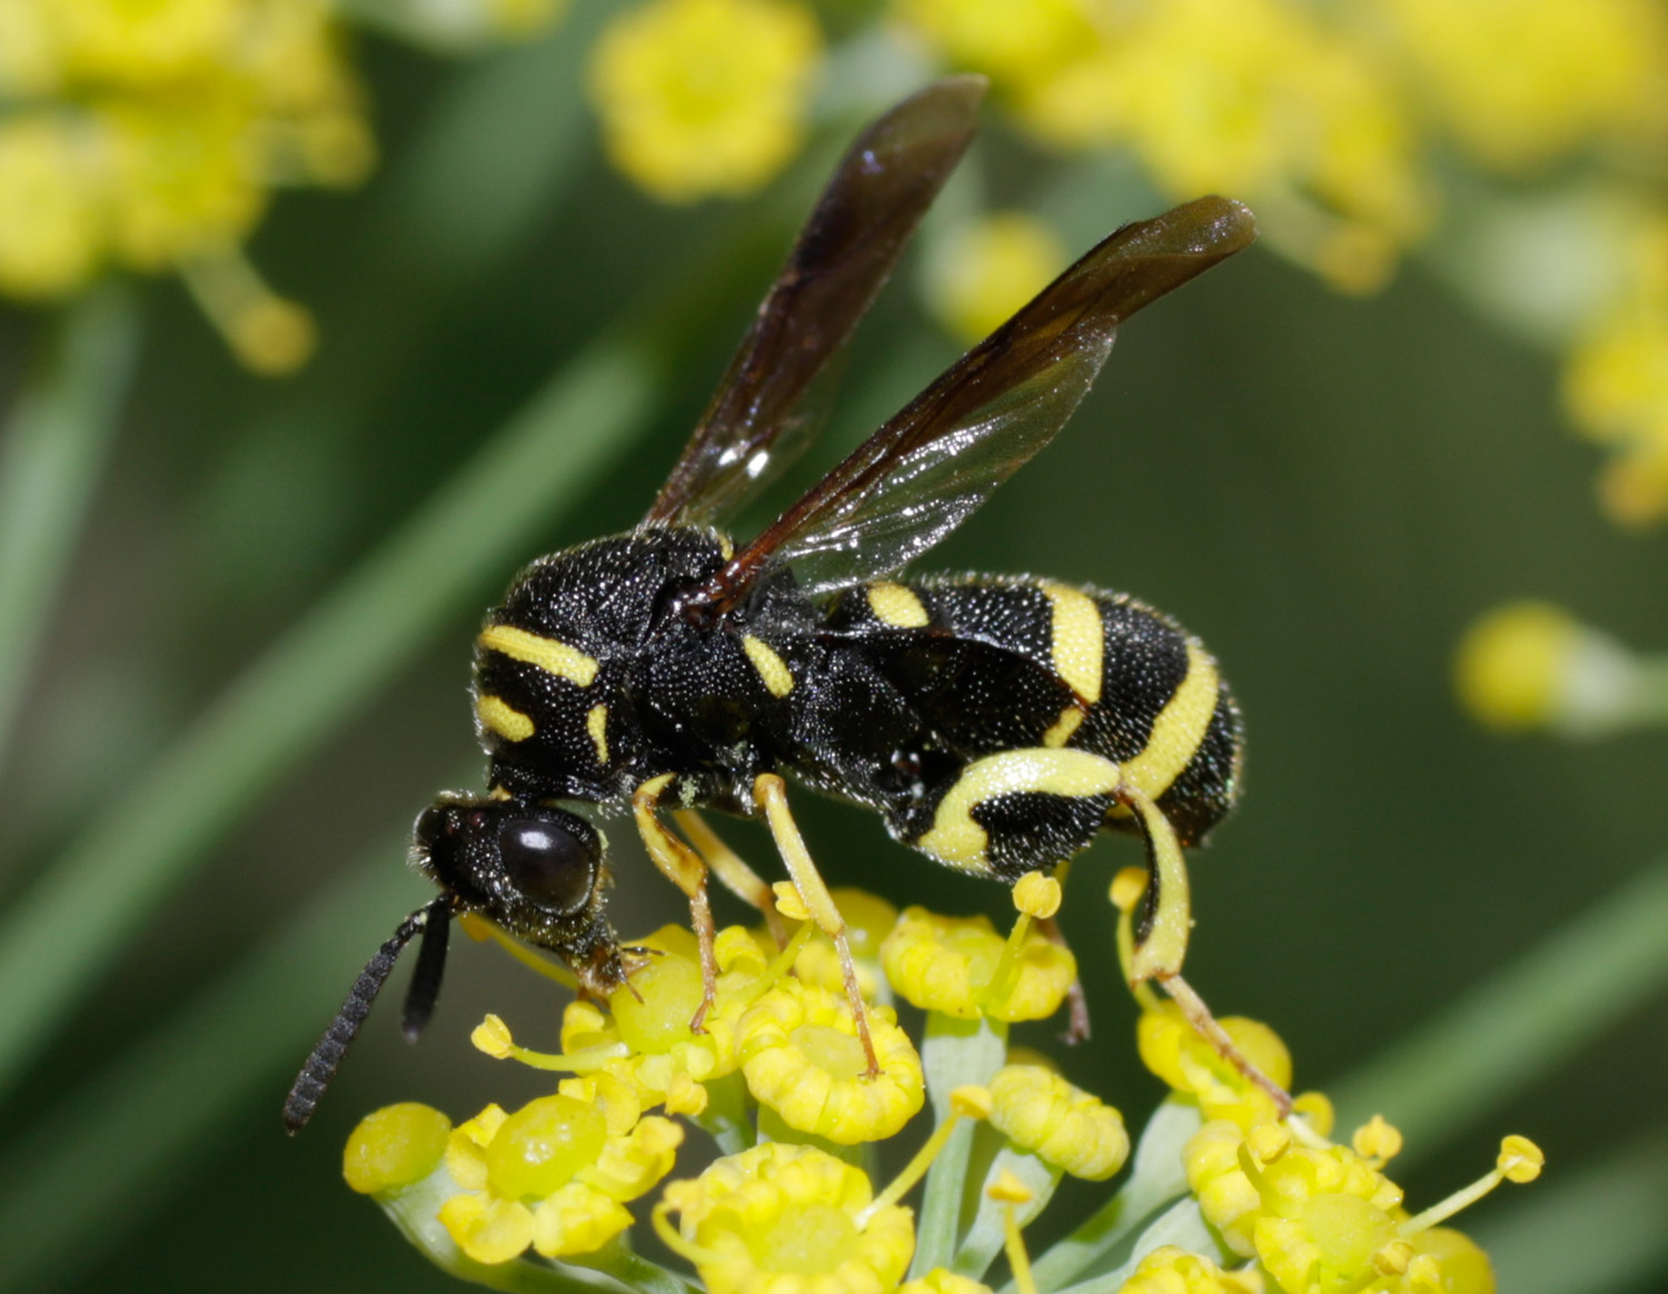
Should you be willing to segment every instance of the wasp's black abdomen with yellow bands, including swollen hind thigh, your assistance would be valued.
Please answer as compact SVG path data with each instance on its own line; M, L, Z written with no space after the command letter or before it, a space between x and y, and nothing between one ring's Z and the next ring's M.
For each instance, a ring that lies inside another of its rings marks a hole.
M1158 800L1184 844L1233 805L1239 714L1216 662L1123 594L944 577L846 594L856 637L921 719L921 794L894 834L952 867L1014 879L1133 829L1118 789Z

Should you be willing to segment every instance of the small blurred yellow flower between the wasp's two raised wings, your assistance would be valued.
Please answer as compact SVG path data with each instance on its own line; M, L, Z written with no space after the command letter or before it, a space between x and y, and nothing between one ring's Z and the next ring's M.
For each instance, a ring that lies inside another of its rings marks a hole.
M1066 265L1054 230L1026 212L991 212L942 235L929 252L926 295L956 337L977 342Z

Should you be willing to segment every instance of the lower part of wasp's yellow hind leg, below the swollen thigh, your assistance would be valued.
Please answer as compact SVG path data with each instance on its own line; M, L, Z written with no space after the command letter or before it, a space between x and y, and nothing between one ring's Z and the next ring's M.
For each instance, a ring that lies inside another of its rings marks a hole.
M1218 1024L1211 1009L1204 1006L1204 999L1181 977L1181 960L1188 952L1188 929L1193 925L1193 914L1188 904L1188 869L1181 860L1181 842L1176 840L1176 830L1169 825L1164 812L1128 782L1118 789L1118 799L1134 810L1136 820L1141 824L1151 877L1148 909L1136 929L1134 957L1129 962L1131 979L1136 984L1146 979L1156 979L1163 984L1169 1001L1181 1007L1181 1014L1194 1032L1246 1079L1268 1092L1274 1099L1279 1117L1284 1119L1291 1114L1291 1094L1251 1064L1249 1057L1228 1037L1228 1031Z

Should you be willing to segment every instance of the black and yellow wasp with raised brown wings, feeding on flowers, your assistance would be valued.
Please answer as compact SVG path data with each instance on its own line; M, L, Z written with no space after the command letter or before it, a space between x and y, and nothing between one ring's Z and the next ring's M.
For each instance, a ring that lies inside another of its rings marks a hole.
M897 572L1054 439L1124 318L1249 245L1256 225L1239 203L1201 198L1119 228L764 534L737 545L716 529L809 439L807 389L961 158L982 90L976 77L944 80L864 130L649 515L539 559L487 614L474 680L487 792L440 795L417 819L412 862L440 894L354 984L290 1092L292 1129L419 934L405 1031L422 1027L452 915L557 952L590 994L627 981L636 950L605 915L602 837L562 804L636 817L689 895L709 1002L707 865L661 812L697 844L696 809L766 817L846 959L864 1037L839 912L782 774L874 809L947 867L1007 884L1053 870L1104 827L1144 834L1149 852L1154 832L1194 844L1233 805L1239 715L1211 655L1173 620L1046 579ZM734 855L707 860L769 909L769 887Z

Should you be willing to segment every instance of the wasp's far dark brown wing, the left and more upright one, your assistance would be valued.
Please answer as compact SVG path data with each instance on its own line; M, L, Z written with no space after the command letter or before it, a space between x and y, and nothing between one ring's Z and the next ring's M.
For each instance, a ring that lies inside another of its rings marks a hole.
M857 137L646 524L709 522L802 447L806 389L851 337L961 160L982 95L982 77L951 77Z

